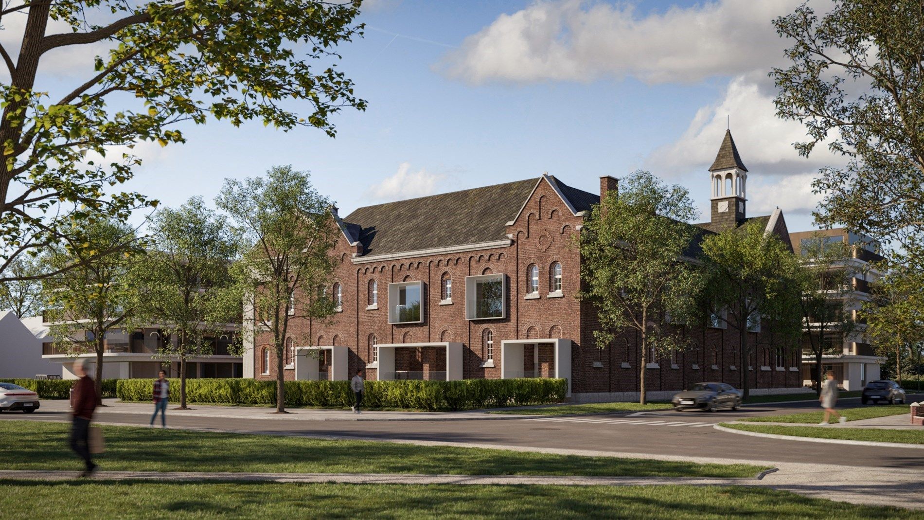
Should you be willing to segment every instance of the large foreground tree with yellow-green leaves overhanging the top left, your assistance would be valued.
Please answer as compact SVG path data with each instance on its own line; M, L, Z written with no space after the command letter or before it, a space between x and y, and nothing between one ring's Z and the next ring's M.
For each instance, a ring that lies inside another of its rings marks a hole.
M107 159L113 147L183 142L178 125L202 124L209 115L235 126L260 119L284 130L317 127L333 137L331 116L366 104L334 65L335 46L361 35L359 4L4 2L0 19L26 19L21 34L9 34L14 24L0 32L4 42L20 41L16 59L0 45L9 74L0 82L0 282L17 278L8 268L24 252L62 243L79 248L72 223L125 221L133 209L155 204L138 193L106 193L140 163L130 153ZM52 97L56 84L37 84L50 78L47 54L90 53L92 44L108 51L73 90ZM109 106L116 101L120 108Z

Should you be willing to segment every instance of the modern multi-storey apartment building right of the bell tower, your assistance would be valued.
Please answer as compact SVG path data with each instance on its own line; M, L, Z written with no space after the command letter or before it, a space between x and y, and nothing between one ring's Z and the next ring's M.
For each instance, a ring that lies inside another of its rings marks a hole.
M817 246L846 244L850 257L833 269L843 270L843 279L848 284L845 290L829 290L833 299L843 305L848 315L855 320L856 326L851 333L825 333L825 355L821 358L823 370L833 370L834 379L842 381L845 390L860 390L867 381L880 378L880 364L883 357L877 357L870 345L866 325L857 312L864 301L869 301L869 283L877 280L881 273L871 264L882 260L867 236L851 233L843 227L814 231L791 233L790 239L796 254L808 254L808 250L817 251ZM822 241L823 243L819 243ZM814 244L813 244L814 243ZM816 247L811 247L812 245ZM841 277L837 277L841 278ZM825 290L820 287L819 290ZM818 325L813 325L816 330ZM817 333L817 332L816 332ZM803 341L808 348L808 338ZM811 385L816 359L809 350L802 357L802 379Z

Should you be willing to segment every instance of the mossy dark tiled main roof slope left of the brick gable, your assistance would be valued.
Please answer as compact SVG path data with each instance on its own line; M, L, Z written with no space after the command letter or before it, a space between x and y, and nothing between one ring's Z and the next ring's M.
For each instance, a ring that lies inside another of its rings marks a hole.
M502 240L538 178L359 208L344 218L365 255Z

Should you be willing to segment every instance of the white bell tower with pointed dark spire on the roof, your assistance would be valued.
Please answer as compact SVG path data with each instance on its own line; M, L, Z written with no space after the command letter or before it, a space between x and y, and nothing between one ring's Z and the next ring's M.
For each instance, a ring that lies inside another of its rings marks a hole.
M731 130L725 130L722 146L709 168L711 228L721 231L745 222L745 184L748 168L741 162Z

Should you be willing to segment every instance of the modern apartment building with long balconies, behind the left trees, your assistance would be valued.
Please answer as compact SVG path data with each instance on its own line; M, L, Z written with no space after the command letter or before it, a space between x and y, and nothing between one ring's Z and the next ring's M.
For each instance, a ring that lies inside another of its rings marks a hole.
M42 318L43 325L52 325L47 318ZM239 378L243 375L243 361L239 356L232 356L228 351L232 338L239 327L227 325L226 333L217 338L210 338L214 342L213 354L208 357L195 357L187 360L188 378ZM88 342L93 340L92 333L85 333ZM180 363L174 359L164 359L157 355L158 351L167 341L163 330L156 326L126 331L115 330L106 334L103 352L103 379L131 379L156 378L161 369L167 370L168 377L178 377ZM172 341L176 341L176 335ZM89 352L82 352L89 350ZM73 367L74 362L83 357L96 362L96 354L92 348L83 349L80 345L73 345L70 352L55 347L52 338L46 337L42 344L43 359L55 361L62 366L64 379L76 379ZM94 373L95 367L91 368Z

